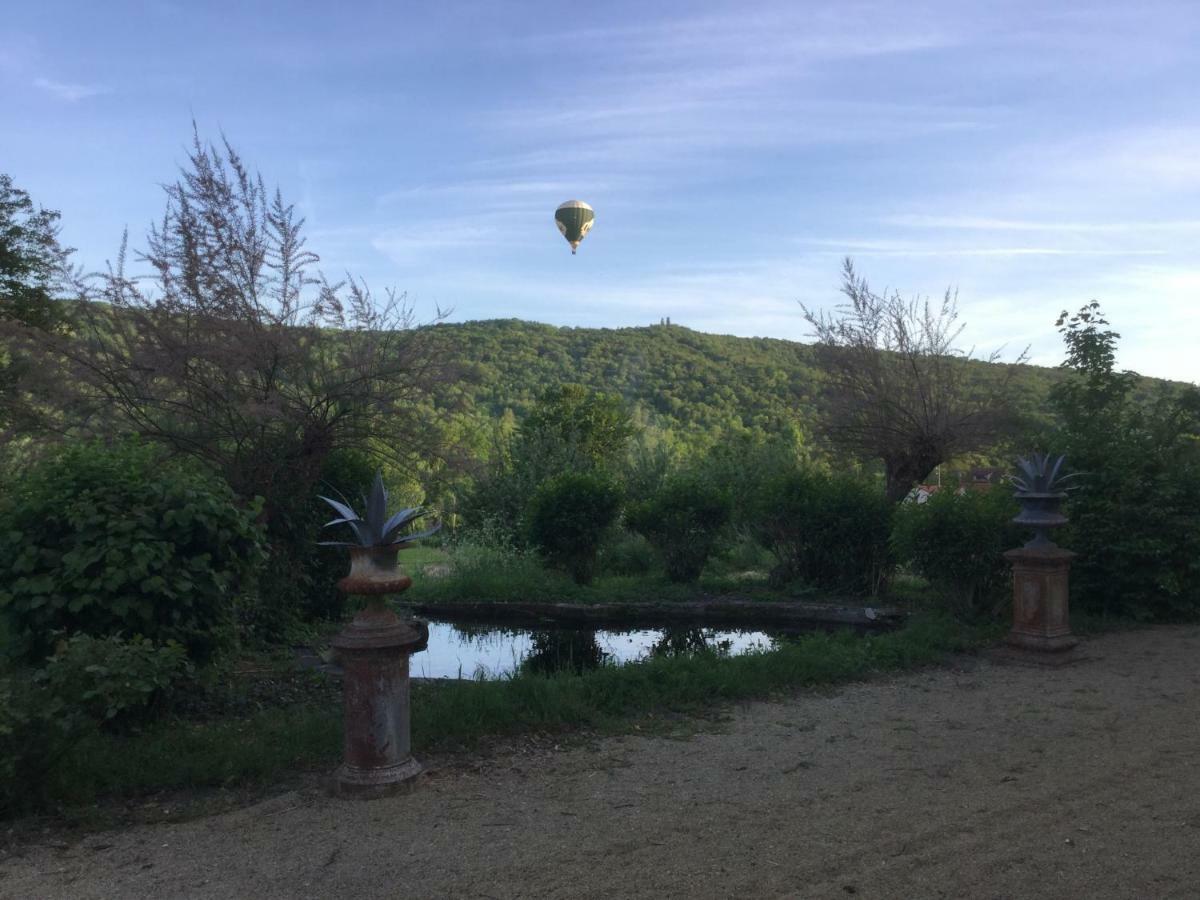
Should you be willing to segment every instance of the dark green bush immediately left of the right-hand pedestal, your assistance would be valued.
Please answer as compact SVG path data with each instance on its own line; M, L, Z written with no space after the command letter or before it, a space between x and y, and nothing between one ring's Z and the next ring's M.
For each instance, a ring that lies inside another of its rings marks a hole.
M1020 546L1012 524L1019 506L1007 487L942 490L926 503L905 503L895 512L895 557L928 580L960 616L995 613L1007 596L1006 550Z

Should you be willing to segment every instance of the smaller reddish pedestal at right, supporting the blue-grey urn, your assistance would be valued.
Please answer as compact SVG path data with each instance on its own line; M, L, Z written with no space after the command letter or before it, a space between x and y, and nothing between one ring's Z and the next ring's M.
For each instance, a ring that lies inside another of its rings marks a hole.
M1038 654L1061 655L1079 640L1070 634L1067 576L1075 554L1052 544L1010 550L1013 630L1008 643Z

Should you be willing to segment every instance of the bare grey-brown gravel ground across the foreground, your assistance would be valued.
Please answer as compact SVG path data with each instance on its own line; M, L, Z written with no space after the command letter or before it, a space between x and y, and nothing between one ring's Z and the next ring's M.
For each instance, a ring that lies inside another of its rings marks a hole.
M1200 629L26 846L5 898L1196 898Z

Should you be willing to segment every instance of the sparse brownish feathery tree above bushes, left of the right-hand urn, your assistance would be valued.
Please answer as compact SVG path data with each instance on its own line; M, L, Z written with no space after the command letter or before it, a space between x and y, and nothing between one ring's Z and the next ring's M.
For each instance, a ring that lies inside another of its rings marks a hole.
M899 502L941 463L1004 432L1015 365L972 371L972 352L955 347L964 325L954 290L938 304L878 294L848 258L841 290L846 302L833 314L802 305L828 379L823 430L838 450L881 461L887 496ZM1024 361L1022 353L1015 362Z

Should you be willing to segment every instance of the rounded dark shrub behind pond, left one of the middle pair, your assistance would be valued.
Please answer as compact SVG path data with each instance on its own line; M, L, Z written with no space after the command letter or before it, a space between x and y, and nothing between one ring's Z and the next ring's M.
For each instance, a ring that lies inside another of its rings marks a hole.
M620 510L620 492L600 473L568 473L542 484L529 500L529 538L577 584L595 575L596 552Z

